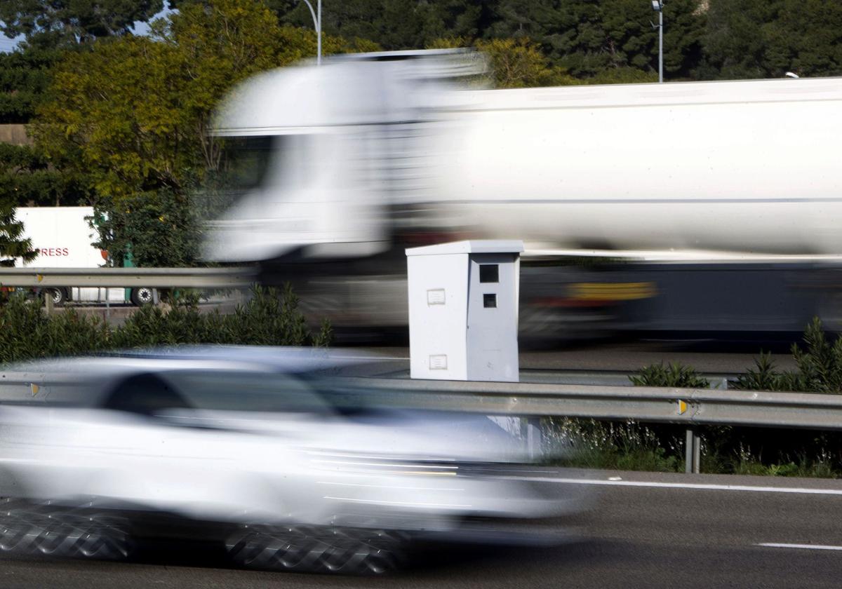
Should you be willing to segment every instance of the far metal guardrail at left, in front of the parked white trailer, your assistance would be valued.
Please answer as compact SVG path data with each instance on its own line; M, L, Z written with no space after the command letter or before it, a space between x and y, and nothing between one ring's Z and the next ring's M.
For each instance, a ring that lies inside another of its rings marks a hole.
M256 268L0 268L0 286L235 289L254 283Z

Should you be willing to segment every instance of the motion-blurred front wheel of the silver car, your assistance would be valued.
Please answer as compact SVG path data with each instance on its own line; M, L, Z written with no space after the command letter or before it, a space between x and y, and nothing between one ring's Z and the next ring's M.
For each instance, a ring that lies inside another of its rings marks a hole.
M248 568L382 575L400 567L404 542L385 530L244 526L226 548Z

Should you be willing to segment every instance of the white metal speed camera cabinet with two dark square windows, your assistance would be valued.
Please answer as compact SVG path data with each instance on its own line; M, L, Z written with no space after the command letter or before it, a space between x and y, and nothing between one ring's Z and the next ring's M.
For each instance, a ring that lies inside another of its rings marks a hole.
M407 252L413 379L518 381L522 241L453 241Z

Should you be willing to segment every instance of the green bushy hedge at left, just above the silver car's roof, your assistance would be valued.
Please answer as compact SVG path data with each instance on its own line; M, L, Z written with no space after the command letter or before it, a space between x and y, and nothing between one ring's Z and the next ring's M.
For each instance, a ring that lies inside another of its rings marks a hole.
M147 305L122 326L81 316L72 308L47 315L34 301L15 294L0 305L0 364L109 349L191 343L324 346L330 326L311 333L287 287L254 289L232 315L200 312L195 297L177 300L168 311Z

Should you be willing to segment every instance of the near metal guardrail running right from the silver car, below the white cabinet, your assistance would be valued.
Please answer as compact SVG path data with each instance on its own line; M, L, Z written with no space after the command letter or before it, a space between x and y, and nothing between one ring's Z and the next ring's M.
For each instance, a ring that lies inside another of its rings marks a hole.
M372 401L384 406L526 417L532 431L540 430L536 417L684 425L689 473L700 468L699 426L842 430L842 395L372 378L344 379L344 383L365 388Z

